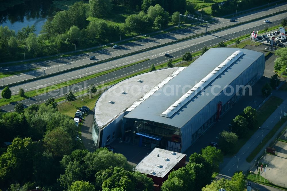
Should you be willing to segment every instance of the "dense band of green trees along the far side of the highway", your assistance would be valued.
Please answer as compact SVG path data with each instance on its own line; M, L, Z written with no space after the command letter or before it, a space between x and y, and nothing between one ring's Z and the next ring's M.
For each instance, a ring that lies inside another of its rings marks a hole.
M75 47L76 39L77 47L95 46L99 43L119 40L121 33L134 35L151 31L153 27L160 28L160 25L168 24L170 16L168 11L175 10L170 13L174 13L172 21L178 22L178 11L183 12L186 6L185 0L174 0L169 3L145 0L142 3L144 8L141 12L129 15L124 23L115 24L103 20L113 19L110 14L113 4L126 5L127 1L76 2L68 10L57 12L53 20L47 20L39 36L34 33L34 25L22 28L17 34L7 26L0 26L0 62L7 61L9 58L23 59L24 52L26 52L26 58L31 58L69 51ZM133 3L131 6L134 6ZM189 6L189 11L192 11L190 7L192 6ZM87 18L91 21L89 22Z

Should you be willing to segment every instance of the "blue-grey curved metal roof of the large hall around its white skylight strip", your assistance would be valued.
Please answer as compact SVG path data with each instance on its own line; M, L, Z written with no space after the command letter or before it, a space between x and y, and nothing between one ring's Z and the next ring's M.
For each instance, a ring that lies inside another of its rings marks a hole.
M242 51L243 55L209 83L203 93L198 93L171 117L160 116L236 51ZM216 92L221 92L260 56L261 52L241 48L211 48L160 87L156 93L133 108L124 118L148 120L181 128L216 97L211 93L212 86L219 86Z

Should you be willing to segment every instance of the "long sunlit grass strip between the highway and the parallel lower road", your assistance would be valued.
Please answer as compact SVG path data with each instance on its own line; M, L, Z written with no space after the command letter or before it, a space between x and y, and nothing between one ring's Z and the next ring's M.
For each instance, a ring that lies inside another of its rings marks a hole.
M40 94L43 94L43 93L47 93L47 92L50 92L50 91L54 91L56 89L60 89L60 88L63 88L63 87L67 87L67 86L73 85L75 83L83 82L83 81L86 81L88 79L93 79L95 77L98 77L98 76L101 76L101 75L105 75L107 73L111 73L113 71L117 71L117 70L120 70L120 69L123 69L123 68L126 68L126 67L130 67L130 66L142 63L142 62L147 61L147 60L149 60L149 59L145 59L145 60L138 61L138 62L129 64L129 65L117 67L115 69L106 70L106 71L103 71L103 72L100 72L100 73L96 73L96 74L92 74L92 75L89 75L89 76L85 76L85 77L82 77L82 78L65 81L65 82L62 82L62 83L59 83L59 84L55 84L55 85L50 85L50 86L47 86L47 87L44 87L44 88L40 88L40 89L36 89L36 90L32 90L32 91L27 91L27 92L25 92L25 97L21 97L20 95L12 95L9 100L4 100L4 99L1 98L0 99L0 106L4 106L4 105L7 105L7 104L11 104L13 102L18 102L18 101L21 101L21 100L25 100L25 99L27 99L29 97L32 98L34 96L37 96L37 95L40 95ZM115 80L114 80L114 82L115 82Z

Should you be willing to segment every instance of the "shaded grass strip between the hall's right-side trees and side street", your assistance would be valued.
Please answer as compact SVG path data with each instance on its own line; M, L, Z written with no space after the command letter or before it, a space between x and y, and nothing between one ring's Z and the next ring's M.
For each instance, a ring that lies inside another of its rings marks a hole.
M283 100L281 98L277 98L275 96L269 98L269 100L267 100L263 104L263 106L261 106L261 108L257 111L258 126L261 126L265 122L265 120L276 110L277 106L279 106L282 102ZM234 147L233 151L226 156L233 156L235 153L237 153L257 130L258 128L251 129L249 130L246 137L238 139L238 142Z

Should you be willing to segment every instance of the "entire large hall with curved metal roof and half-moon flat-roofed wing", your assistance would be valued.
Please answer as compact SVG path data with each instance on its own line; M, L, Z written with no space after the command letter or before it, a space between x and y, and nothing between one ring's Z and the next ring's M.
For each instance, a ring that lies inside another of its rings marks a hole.
M188 67L122 81L96 103L95 145L120 137L140 147L184 152L242 95L249 95L264 67L261 52L212 48Z

